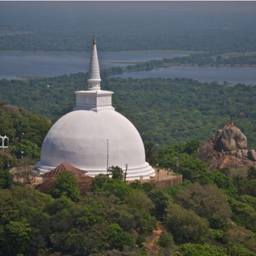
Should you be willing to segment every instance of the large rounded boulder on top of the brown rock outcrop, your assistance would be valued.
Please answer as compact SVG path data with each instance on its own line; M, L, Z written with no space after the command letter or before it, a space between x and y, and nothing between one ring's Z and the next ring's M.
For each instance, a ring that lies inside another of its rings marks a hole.
M216 149L219 151L237 151L247 148L247 138L233 124L226 124L215 136Z

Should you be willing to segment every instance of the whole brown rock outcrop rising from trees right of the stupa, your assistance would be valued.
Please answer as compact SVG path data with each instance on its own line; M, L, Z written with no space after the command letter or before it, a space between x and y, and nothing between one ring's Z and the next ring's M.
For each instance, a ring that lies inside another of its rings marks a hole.
M246 136L233 124L226 124L198 153L209 169L256 167L256 152L247 150Z

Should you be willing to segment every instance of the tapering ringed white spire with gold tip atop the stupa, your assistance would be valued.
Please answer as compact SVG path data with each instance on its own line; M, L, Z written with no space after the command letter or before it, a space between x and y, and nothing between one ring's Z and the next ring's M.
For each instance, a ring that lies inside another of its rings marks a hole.
M99 60L96 46L96 37L93 37L93 50L90 63L90 75L88 79L88 90L100 90Z

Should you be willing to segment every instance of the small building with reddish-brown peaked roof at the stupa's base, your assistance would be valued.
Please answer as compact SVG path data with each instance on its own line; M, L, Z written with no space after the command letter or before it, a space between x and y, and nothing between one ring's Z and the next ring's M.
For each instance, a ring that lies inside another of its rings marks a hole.
M36 187L36 189L43 193L49 194L53 182L56 181L57 176L63 171L67 171L75 175L78 185L81 188L82 196L84 196L87 192L90 191L90 187L94 178L87 176L86 170L78 169L68 162L61 163L56 168L52 169L50 172L41 175L42 183L39 184Z

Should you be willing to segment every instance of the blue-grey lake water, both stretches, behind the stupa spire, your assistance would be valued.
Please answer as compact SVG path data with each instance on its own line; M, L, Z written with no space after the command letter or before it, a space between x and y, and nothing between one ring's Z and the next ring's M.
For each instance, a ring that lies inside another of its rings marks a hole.
M98 53L101 69L125 67L134 62L187 56L182 53ZM0 79L19 76L58 76L89 70L91 53L0 53ZM150 71L125 72L113 77L192 78L200 82L256 84L256 68L172 66Z

